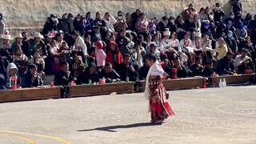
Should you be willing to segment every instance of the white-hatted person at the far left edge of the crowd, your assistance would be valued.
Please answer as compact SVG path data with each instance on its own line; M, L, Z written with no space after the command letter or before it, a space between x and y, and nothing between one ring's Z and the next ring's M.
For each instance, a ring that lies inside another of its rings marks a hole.
M2 42L0 42L0 57L7 63L12 62L10 39L10 33L6 31L6 33L2 35Z

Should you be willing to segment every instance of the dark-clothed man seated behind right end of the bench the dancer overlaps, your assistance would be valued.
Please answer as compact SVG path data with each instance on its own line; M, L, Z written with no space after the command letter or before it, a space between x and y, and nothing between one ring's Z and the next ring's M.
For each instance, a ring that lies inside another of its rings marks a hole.
M202 75L203 75L202 58L197 56L195 57L194 64L190 66L190 77L202 76Z

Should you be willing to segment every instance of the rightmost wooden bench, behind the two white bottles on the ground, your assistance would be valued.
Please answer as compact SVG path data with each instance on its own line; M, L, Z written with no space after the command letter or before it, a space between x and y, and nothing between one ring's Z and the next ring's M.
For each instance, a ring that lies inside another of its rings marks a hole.
M226 84L239 84L254 81L255 74L238 74L238 75L221 75L218 77L210 77L209 84L210 86L218 86L220 79L225 78Z

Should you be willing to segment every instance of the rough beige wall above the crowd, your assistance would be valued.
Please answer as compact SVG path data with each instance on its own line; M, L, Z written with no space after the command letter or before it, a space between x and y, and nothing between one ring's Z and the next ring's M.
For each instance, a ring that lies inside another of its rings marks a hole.
M241 1L244 13L252 11L255 14L256 0ZM229 0L0 0L0 10L7 27L40 27L51 13L61 16L65 12L85 14L91 11L95 14L99 10L116 15L118 10L132 12L141 8L149 18L162 18L163 15L180 14L190 2L197 10L221 2L226 13L230 13Z

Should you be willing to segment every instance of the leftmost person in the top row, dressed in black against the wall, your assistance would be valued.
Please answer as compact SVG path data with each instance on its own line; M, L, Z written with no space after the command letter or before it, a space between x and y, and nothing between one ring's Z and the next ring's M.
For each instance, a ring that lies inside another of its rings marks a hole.
M50 17L47 18L45 25L42 29L42 34L46 35L49 31L52 30L58 30L57 29L58 24L58 17L56 14L50 14Z

